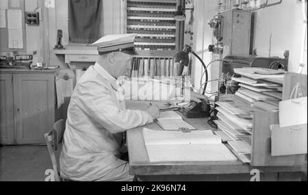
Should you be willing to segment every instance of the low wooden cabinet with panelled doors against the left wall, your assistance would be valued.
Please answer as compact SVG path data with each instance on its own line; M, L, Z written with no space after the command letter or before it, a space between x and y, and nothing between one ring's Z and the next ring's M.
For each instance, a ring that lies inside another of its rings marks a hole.
M55 121L55 75L0 72L1 144L44 144Z

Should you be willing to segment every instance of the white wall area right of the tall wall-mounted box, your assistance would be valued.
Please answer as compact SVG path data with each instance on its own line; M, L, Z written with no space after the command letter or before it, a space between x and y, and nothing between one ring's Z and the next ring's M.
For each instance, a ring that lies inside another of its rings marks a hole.
M269 1L269 3L272 2L273 1ZM258 10L255 17L253 48L257 49L258 55L266 57L268 57L269 54L271 56L283 57L283 52L289 50L290 72L296 72L300 62L300 43L303 29L301 9L300 1L283 0L280 5ZM303 73L307 75L307 54L305 64L306 66Z

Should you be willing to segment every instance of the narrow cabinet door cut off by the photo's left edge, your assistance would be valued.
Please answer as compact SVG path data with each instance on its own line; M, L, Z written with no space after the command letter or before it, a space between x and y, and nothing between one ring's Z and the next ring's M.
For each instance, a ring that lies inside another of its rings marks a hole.
M0 73L0 143L14 144L14 101L12 74Z

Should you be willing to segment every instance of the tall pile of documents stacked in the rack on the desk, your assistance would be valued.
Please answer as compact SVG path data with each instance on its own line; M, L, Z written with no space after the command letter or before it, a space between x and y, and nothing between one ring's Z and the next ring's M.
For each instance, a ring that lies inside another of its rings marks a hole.
M233 152L244 162L251 162L253 112L277 111L282 99L284 72L266 68L235 68L242 77L233 77L240 89L231 101L216 103L217 135L228 142Z

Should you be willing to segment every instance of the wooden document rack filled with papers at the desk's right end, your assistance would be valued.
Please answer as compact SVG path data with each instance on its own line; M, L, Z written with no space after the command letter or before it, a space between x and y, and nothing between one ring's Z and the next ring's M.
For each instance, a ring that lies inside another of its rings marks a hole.
M303 88L307 96L307 75L286 73L283 78L283 95L281 98L277 97L277 102L285 99L283 97L290 98L294 84L302 81L303 77L306 78ZM282 85L277 86L277 88L280 87ZM244 88L244 90L248 89ZM279 109L259 107L260 103L266 105L263 99L268 101L264 93L260 92L260 96L247 96L255 94L253 91L239 93L240 96L233 94L220 96L220 102L216 103L218 105L216 107L219 118L218 129L224 131L233 140L228 142L231 151L251 166L302 166L307 164L307 154L272 155L270 126L279 124Z

